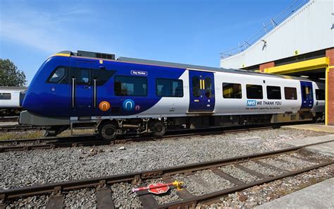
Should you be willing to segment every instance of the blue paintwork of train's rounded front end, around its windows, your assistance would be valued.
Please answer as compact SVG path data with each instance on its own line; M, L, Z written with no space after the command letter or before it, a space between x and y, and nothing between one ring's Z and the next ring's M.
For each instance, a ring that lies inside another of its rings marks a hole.
M92 85L76 85L75 108L71 107L71 84L47 83L52 71L57 66L84 67L116 71L104 85L97 86L97 107L94 108L92 101ZM132 73L131 73L132 71ZM114 94L114 76L134 76L133 71L147 72L138 76L147 77L147 97L116 96ZM97 59L51 56L39 68L32 79L23 101L23 107L28 111L47 117L75 117L75 116L125 116L138 114L151 108L161 100L156 96L156 78L178 79L185 72L185 68L173 68L166 66L151 66L145 64L132 64L121 61L106 61L99 64ZM185 92L187 93L187 92ZM132 100L135 108L123 108L125 100ZM107 101L111 109L119 108L120 112L103 112L99 109L99 103ZM90 106L90 107L89 107Z

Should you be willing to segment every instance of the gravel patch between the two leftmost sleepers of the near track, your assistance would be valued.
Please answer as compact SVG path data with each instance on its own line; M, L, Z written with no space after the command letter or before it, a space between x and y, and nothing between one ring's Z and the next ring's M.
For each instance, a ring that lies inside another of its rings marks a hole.
M64 208L97 208L95 189L70 191L65 196Z

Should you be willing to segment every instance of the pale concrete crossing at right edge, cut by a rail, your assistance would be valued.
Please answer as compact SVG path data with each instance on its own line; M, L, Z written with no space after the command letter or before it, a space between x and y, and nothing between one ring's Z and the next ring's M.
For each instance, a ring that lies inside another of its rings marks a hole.
M295 141L286 142L288 145L300 146L300 145L308 145L311 143L319 143L334 140L334 134L326 135L326 136L315 136L309 138L302 138ZM321 153L323 155L329 155L334 157L334 141L323 143L319 145L313 145L306 148L314 153Z

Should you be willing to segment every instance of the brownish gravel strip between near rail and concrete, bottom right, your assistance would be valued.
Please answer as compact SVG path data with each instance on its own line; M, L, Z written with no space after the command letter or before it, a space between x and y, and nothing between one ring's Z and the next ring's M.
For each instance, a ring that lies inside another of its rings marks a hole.
M334 165L328 165L309 172L287 177L268 184L253 186L243 191L232 193L221 198L221 203L212 205L197 205L199 208L255 208L258 205L273 201L289 193L303 189L312 184L334 177Z

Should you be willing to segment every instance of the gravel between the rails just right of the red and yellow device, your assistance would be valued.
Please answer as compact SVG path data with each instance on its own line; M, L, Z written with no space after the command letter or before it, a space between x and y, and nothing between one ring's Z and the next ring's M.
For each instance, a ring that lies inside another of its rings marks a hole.
M205 193L211 193L235 186L230 181L214 174L211 170L194 172L194 174L189 176L176 174L173 176L173 179L185 182L187 191L190 191L194 196L201 196Z

